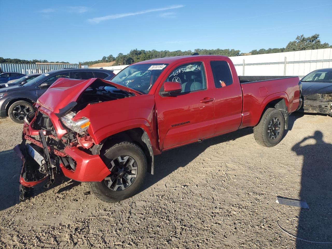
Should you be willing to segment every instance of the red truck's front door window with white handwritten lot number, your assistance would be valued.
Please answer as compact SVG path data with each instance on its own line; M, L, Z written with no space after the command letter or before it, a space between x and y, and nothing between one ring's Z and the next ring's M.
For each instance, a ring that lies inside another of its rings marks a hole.
M179 82L181 93L189 93L207 88L204 67L202 62L183 64L175 68L166 81Z

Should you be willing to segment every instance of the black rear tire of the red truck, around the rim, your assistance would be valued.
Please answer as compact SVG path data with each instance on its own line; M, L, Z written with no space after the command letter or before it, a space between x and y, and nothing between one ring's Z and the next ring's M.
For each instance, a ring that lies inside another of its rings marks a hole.
M268 125L273 118L278 118L280 120L280 133L272 140L268 135ZM273 147L283 138L284 130L285 119L283 114L275 108L268 108L263 114L260 122L254 127L254 137L258 144L265 147Z

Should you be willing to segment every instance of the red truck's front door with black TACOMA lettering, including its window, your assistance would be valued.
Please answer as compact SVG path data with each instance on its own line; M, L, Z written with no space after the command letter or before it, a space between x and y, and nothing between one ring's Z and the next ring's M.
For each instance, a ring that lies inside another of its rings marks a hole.
M207 84L206 61L186 61L171 68L163 81L176 81L182 92L163 96L163 86L155 94L159 143L161 149L213 136L214 93Z

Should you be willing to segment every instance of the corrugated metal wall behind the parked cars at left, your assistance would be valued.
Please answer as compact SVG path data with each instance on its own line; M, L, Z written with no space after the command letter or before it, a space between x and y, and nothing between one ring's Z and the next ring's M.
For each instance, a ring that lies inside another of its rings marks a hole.
M78 68L78 64L68 63L36 63L36 64L16 64L16 63L0 63L3 72L17 72L24 74L46 73L52 70L64 68Z

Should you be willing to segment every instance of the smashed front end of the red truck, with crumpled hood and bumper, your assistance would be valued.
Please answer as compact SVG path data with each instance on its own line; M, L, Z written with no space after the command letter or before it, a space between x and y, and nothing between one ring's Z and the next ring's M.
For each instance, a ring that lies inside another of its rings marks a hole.
M23 161L20 200L45 180L49 188L60 172L79 182L104 180L110 170L99 156L101 143L89 134L89 118L77 114L88 105L132 96L100 79L56 81L38 100L37 111L25 118L23 141L14 148Z

